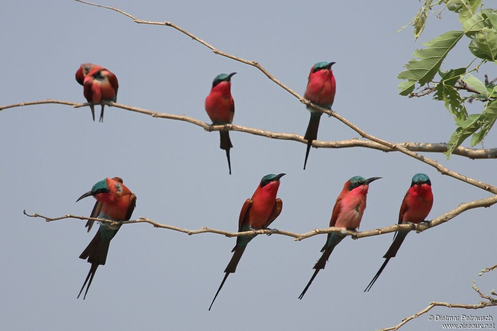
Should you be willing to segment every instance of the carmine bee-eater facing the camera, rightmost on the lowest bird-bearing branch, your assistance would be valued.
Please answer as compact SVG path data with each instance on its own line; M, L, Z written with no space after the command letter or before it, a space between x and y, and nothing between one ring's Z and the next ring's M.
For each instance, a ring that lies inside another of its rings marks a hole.
M428 216L432 205L433 194L431 193L431 182L429 177L425 174L415 174L413 176L413 181L411 182L411 187L407 190L404 200L402 201L401 210L399 212L399 224L419 224L423 222L426 216ZM371 280L364 292L369 292L390 259L395 258L397 251L408 233L409 231L395 233L394 242L383 256L383 258L386 259L385 262L378 272L376 272L373 280Z

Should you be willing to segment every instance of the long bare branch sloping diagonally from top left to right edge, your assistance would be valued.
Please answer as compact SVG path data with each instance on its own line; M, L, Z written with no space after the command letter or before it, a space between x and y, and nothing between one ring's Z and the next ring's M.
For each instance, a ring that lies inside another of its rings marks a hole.
M83 1L83 0L76 0L76 1L82 2L82 3L86 3L86 4L89 4L89 5L93 5L93 6L97 6L97 7L101 7L101 8L107 8L107 9L111 9L111 10L117 11L117 12L119 12L119 13L121 13L121 14L129 17L129 18L131 18L136 23L170 26L170 27L172 27L172 28L180 31L181 33L184 33L185 35L189 36L193 40L198 41L199 43L201 43L205 47L211 49L215 54L222 55L224 57L227 57L227 58L235 60L235 61L239 61L239 62L247 64L249 66L255 66L257 69L259 69L260 71L262 71L270 80L272 80L273 82L275 82L276 84L278 84L279 86L281 86L283 89L285 89L286 91L288 91L289 93L291 93L293 96L295 96L297 99L299 99L300 102L308 105L309 107L311 107L313 109L316 109L318 111L321 111L321 112L323 112L325 114L328 114L328 115L336 118L337 120L339 120L340 122L342 122L343 124L345 124L350 129L352 129L355 132L359 133L363 138L369 139L371 141L379 143L379 144L381 144L383 146L386 146L388 148L398 150L398 151L400 151L400 152L402 152L402 153L404 153L406 155L409 155L409 156L411 156L411 157L413 157L413 158L415 158L415 159L417 159L417 160L419 160L421 162L424 162L424 163L426 163L426 164L428 164L428 165L436 168L442 175L451 176L451 177L456 178L456 179L458 179L460 181L463 181L463 182L466 182L468 184L474 185L474 186L476 186L478 188L481 188L481 189L483 189L485 191L489 191L491 193L497 194L497 187L495 187L495 186L492 186L490 184L486 184L484 182L477 181L477 180L474 180L472 178L463 176L463 175L461 175L459 173L456 173L454 171L450 171L446 167L442 166L439 162L437 162L435 160L432 160L432 159L429 159L427 157L424 157L422 155L419 155L416 152L414 152L412 150L409 150L409 149L407 149L406 147L404 147L402 145L398 145L398 144L395 144L395 143L389 142L387 140L383 140L383 139L377 138L377 137L375 137L375 136L373 136L371 134L366 133L365 131L363 131L362 129L360 129L359 127L357 127L356 125L354 125L351 122L349 122L344 117L338 115L336 112L328 110L328 109L325 109L325 108L322 108L322 107L318 107L318 106L314 105L312 102L310 102L309 100L303 98L297 92L295 92L294 90L292 90L291 88L289 88L288 86L286 86L285 84L283 84L281 81L279 81L278 79L276 79L272 74L269 73L269 71L267 71L263 66L259 65L259 63L257 63L256 61L249 61L249 60L246 60L246 59L243 59L243 58L240 58L240 57L236 57L236 56L233 56L231 54L222 52L222 51L218 50L217 48L215 48L214 46L212 46L212 45L208 44L207 42L203 41L202 39L196 37L192 33L184 30L183 28L180 28L179 26L177 26L177 25L175 25L175 24L173 24L171 22L167 22L167 21L166 22L144 21L144 20L138 19L138 18L134 17L133 15L131 15L131 14L125 12L125 11L122 11L121 9L115 8L115 7L113 8L113 7L104 6L104 5L100 5L100 4L95 4L95 3L91 3L91 2Z

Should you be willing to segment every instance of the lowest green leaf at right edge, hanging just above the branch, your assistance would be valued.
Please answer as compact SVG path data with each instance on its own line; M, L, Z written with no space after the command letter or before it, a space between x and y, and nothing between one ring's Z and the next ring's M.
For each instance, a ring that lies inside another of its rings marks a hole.
M447 152L444 154L447 158L450 154L461 145L461 143L466 140L470 135L473 135L471 139L471 145L474 146L480 143L487 133L490 131L497 119L497 100L489 102L481 114L472 114L467 120L456 120L459 128L456 129L449 142L447 143ZM480 130L480 132L477 132Z

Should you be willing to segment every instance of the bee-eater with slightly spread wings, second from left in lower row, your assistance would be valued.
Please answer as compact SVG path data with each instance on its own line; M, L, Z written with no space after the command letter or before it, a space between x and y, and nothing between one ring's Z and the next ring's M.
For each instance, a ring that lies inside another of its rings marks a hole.
M281 209L283 208L283 201L279 198L276 199L276 194L278 193L280 184L279 180L283 176L285 176L285 174L270 174L262 177L262 180L253 193L252 198L245 200L242 210L240 211L240 217L238 219L239 232L250 230L255 232L255 230L259 229L269 229L269 224L271 224L271 222L279 216ZM248 242L253 238L254 236L237 237L237 244L232 250L232 252L234 252L233 257L224 270L226 275L224 276L214 299L212 299L209 310L211 310L212 304L214 303L214 300L216 300L219 291L221 291L228 275L236 271L237 265L240 262L242 254L244 254Z

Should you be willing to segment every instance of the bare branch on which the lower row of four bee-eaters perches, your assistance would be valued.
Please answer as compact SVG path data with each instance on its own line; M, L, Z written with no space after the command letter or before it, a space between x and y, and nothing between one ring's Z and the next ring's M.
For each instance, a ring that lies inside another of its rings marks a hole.
M434 218L433 220L429 222L422 222L420 224L394 224L390 226L386 226L380 229L373 229L373 230L368 230L368 231L362 231L362 232L355 232L355 231L350 231L350 230L344 230L342 228L335 228L335 227L329 227L329 228L324 228L324 229L314 229L312 231L306 232L306 233L295 233L295 232L290 232L286 230L257 230L255 233L256 234L280 234L283 236L288 236L295 238L294 240L300 241L304 240L310 237L314 237L319 234L328 234L328 233L342 233L344 235L351 236L352 239L360 239L360 238L365 238L365 237L371 237L371 236L378 236L381 234L385 233L391 233L391 232L396 232L396 231L412 231L414 230L416 233L420 233L422 231L425 231L429 228L433 228L435 226L438 226L442 223L448 222L452 218L456 217L457 215L463 213L466 210L473 209L473 208L480 208L480 207L490 207L491 205L497 203L497 195L485 198L485 199L479 199L471 202L465 202L461 203L459 206L456 208L446 212L445 214L438 216L437 218ZM224 230L217 230L217 229L212 229L208 227L202 227L198 230L189 230L189 229L183 229L177 226L172 226L172 225L166 225L166 224L161 224L156 221L153 221L151 219L148 219L146 217L139 217L138 219L135 220L129 220L129 221L113 221L113 220L108 220L104 218L92 218L92 217L84 217L84 216L77 216L77 215L72 215L72 214L66 214L61 217L47 217L43 216L38 213L34 214L28 214L26 213L26 210L23 211L24 215L29 216L29 217L41 217L44 218L47 222L52 222L52 221L58 221L61 219L66 219L66 218L75 218L75 219L83 219L83 220L92 220L92 221L100 221L104 223L110 223L112 225L119 225L119 224L132 224L132 223L149 223L152 224L156 228L163 228L163 229L169 229L173 231L178 231L178 232L183 232L188 235L194 235L194 234L199 234L199 233L216 233L216 234L222 234L226 237L239 237L239 236L249 236L253 235L253 231L244 231L244 232L229 232L229 231L224 231Z

